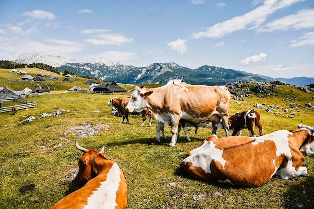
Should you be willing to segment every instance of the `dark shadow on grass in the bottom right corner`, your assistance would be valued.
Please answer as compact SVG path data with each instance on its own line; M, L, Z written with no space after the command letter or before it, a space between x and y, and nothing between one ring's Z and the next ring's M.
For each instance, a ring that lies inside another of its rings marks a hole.
M314 177L303 176L301 183L286 183L285 208L314 208Z

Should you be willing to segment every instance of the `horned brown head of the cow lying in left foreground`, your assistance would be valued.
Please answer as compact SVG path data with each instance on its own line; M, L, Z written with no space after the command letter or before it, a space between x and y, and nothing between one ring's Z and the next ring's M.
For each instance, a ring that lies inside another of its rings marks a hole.
M87 181L95 176L92 176L92 163L95 155L103 154L105 147L102 147L100 151L97 149L85 149L81 147L75 140L75 147L84 153L83 157L79 159L78 166L79 172L75 179L72 181L72 187L83 187Z

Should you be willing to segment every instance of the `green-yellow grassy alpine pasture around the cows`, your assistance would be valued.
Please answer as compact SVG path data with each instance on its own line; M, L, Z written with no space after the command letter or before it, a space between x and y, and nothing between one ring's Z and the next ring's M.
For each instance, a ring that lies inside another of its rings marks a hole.
M32 73L39 71L31 70ZM8 82L8 76L13 75L8 75L8 71L0 69L2 87L34 89L34 83L29 81ZM198 181L181 171L180 163L187 152L210 135L211 126L199 128L197 134L194 127L189 128L192 142L187 142L182 131L176 147L168 148L171 133L166 125L167 139L161 138L160 144L149 145L146 141L155 139L157 121L151 127L148 121L140 127L141 116L130 116L129 125L121 124L121 117L112 115L112 107L107 105L113 96L130 94L63 93L74 85L87 89L88 85L83 83L86 80L76 78L74 83L51 83L58 91L26 98L36 103L35 108L18 110L16 115L0 113L1 208L50 208L73 192L71 180L82 156L74 146L75 140L85 148L100 150L105 146L104 156L117 162L126 178L127 208L311 208L314 204L314 159L305 157L303 166L308 169L307 175L289 180L274 176L258 188ZM297 130L300 121L314 126L314 110L304 108L312 102L312 96L313 92L305 93L295 86L278 85L270 96L258 97L251 93L251 97L243 98L245 101L232 100L230 115L254 108L260 113L264 134L281 129ZM257 103L264 103L265 108L278 105L279 114L253 107ZM297 108L292 110L290 103ZM2 106L6 104L16 105L10 101ZM289 111L284 112L283 108ZM65 111L58 116L38 118L57 110ZM290 113L294 117L288 117ZM36 119L21 123L30 116ZM242 135L249 136L249 133L243 130ZM225 136L224 130L218 129L217 136Z

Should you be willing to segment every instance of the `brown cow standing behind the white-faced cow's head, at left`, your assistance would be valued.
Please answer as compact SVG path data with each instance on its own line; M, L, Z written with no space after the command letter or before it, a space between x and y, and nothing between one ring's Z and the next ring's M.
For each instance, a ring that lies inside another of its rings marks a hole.
M113 97L110 99L110 101L108 102L108 106L113 106L115 108L118 109L118 112L120 112L123 115L123 119L122 119L122 123L124 123L124 119L126 118L126 124L130 124L129 120L128 120L128 115L139 115L141 113L142 118L143 118L143 122L140 124L140 126L143 126L147 116L149 118L149 126L151 126L151 122L152 122L152 118L153 118L153 113L150 112L148 109L142 110L140 111L140 113L138 112L133 112L133 113L128 113L125 110L125 106L127 105L127 103L130 101L130 97L124 97L124 98L116 98Z

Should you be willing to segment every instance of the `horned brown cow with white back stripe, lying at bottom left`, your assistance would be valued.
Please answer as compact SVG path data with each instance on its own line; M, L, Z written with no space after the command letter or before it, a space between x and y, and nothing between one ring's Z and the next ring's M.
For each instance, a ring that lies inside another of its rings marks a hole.
M79 159L79 172L72 186L82 187L67 195L52 208L125 208L127 206L127 185L117 163L108 160L97 149L85 149L77 141L75 146L84 153Z

